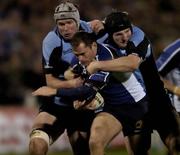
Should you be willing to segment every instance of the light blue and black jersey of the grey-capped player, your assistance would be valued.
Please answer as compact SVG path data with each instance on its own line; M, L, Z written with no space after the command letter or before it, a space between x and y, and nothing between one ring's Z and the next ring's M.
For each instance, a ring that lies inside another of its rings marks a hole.
M92 32L88 22L80 21L80 29ZM52 74L64 80L64 72L68 69L72 58L72 46L69 41L64 40L58 32L57 27L50 31L42 44L43 69L45 74ZM70 105L66 102L71 100L55 97L55 103L59 105Z

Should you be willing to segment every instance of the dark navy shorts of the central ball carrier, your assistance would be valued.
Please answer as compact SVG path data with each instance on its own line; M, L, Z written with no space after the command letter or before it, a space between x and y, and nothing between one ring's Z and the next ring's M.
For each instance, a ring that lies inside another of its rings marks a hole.
M125 136L149 132L149 129L144 126L147 111L148 100L146 97L134 104L105 104L103 109L103 112L112 114L121 122Z

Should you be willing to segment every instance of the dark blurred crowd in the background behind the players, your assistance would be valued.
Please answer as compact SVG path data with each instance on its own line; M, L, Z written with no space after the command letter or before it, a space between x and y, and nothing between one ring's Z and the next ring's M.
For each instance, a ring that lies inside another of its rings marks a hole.
M43 85L41 45L53 29L58 0L0 1L0 104L25 104L31 91ZM71 0L81 19L101 19L113 9L130 14L133 24L151 39L154 55L180 36L178 0Z

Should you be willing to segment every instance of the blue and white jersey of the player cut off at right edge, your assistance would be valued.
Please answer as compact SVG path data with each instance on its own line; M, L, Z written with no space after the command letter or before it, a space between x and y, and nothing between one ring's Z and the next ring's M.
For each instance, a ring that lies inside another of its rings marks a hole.
M167 46L156 60L159 74L171 81L174 85L180 86L180 39L175 40ZM171 94L172 102L180 112L180 97Z

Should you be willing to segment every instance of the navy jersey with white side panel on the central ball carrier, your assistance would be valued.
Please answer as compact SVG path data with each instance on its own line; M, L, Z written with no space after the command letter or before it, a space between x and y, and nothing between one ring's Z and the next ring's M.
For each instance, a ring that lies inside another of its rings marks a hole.
M113 58L113 53L105 44L98 44L97 61L112 60ZM73 59L73 61L77 63L77 59ZM72 63L76 64L74 62ZM88 83L88 81L91 83L93 81L96 85L100 83L101 88L99 88L99 92L106 104L134 104L146 95L143 87L133 73L127 81L120 83L110 72L98 71L90 75L86 82Z

